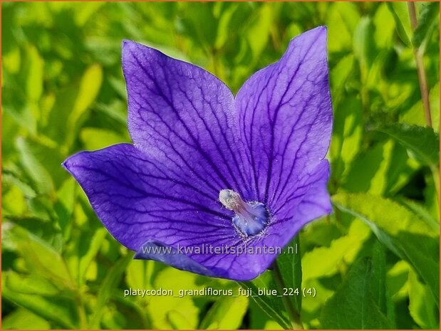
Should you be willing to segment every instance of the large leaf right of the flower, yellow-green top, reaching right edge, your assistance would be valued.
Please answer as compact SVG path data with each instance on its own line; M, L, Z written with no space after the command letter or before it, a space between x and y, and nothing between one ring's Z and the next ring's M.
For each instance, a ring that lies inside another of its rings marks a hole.
M370 194L336 194L333 204L367 224L378 240L408 261L439 300L439 232L404 206Z

